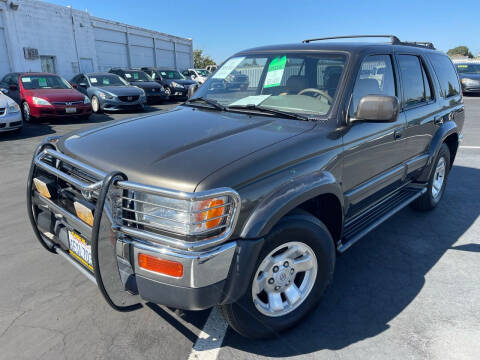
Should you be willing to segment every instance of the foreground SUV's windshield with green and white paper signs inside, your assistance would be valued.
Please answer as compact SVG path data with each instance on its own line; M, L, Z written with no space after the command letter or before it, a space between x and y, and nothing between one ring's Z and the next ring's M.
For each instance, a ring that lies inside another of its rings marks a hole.
M346 57L342 54L283 53L233 57L195 93L223 106L272 108L326 115Z

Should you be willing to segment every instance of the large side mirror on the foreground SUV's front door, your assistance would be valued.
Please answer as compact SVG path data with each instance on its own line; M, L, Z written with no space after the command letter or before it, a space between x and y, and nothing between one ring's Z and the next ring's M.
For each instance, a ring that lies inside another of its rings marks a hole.
M350 121L394 122L399 110L396 96L367 95L360 99L355 118Z

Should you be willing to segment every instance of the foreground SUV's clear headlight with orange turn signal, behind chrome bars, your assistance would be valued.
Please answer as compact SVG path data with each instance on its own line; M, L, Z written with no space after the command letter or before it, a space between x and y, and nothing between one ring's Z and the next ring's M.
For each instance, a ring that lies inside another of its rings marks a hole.
M135 221L132 223L152 231L163 230L185 236L218 234L232 225L238 203L234 196L190 201L135 193L135 209L132 209ZM129 222L126 218L123 220Z

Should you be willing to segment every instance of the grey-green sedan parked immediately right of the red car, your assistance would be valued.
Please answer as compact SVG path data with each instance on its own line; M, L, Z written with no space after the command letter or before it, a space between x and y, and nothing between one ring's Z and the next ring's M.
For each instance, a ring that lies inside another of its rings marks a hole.
M110 73L78 74L70 83L90 98L93 112L143 110L145 91Z

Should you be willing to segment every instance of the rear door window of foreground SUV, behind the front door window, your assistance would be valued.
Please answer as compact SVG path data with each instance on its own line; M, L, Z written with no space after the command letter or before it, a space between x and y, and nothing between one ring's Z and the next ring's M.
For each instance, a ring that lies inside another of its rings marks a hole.
M415 55L399 55L405 107L426 103L432 99L430 83L421 60Z

